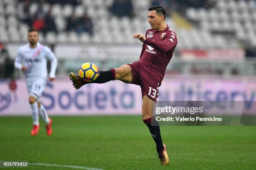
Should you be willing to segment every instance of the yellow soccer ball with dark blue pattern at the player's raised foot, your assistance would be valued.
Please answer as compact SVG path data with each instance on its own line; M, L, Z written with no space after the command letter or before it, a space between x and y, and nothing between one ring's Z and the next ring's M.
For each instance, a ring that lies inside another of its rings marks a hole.
M78 74L85 82L93 82L99 76L99 69L92 62L85 62L79 68Z

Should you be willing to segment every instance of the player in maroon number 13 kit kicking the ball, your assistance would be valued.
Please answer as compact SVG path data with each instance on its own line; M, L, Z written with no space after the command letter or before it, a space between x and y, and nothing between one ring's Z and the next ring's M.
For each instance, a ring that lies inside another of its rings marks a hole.
M90 82L105 83L110 80L121 80L141 86L142 119L156 143L161 165L168 165L169 157L161 139L159 124L154 118L154 107L166 67L177 45L176 33L166 25L165 16L166 11L163 7L149 7L148 23L151 29L146 31L146 36L140 33L133 35L133 38L138 38L143 42L140 60L109 71L100 71L99 77L94 82ZM69 77L76 89L88 83L73 72L69 74Z

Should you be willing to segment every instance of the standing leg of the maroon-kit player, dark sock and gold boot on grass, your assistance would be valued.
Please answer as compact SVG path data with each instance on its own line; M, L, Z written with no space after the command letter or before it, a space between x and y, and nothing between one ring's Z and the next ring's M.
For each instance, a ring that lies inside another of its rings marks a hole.
M143 95L142 104L142 119L148 126L152 138L156 143L156 150L160 158L161 165L169 164L169 157L167 155L166 146L162 142L159 123L154 118L154 108L156 103L151 100L147 95Z

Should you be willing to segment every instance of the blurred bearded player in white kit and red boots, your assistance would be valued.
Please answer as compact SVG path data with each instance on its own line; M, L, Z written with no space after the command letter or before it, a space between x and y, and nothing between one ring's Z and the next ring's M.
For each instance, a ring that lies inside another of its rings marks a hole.
M24 71L26 75L26 84L28 88L28 101L32 109L33 129L31 135L37 135L39 132L39 115L46 123L47 135L52 134L52 120L48 117L40 97L44 92L47 83L47 59L51 61L51 71L49 81L55 79L57 59L54 53L46 45L38 42L38 30L30 28L28 30L28 42L20 46L15 58L16 68Z

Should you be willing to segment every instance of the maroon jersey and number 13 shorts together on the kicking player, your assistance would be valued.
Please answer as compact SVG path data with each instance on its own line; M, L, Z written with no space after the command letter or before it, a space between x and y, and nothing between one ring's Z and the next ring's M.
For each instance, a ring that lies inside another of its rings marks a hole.
M159 84L164 78L176 45L176 33L168 26L162 31L153 29L146 31L140 60L128 64L133 70L131 83L141 86L142 96L147 95L156 102Z

